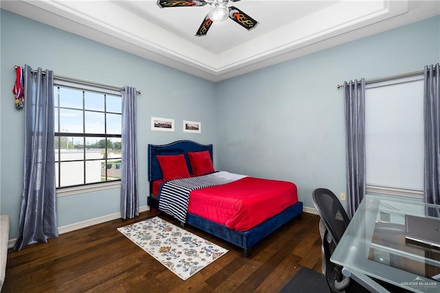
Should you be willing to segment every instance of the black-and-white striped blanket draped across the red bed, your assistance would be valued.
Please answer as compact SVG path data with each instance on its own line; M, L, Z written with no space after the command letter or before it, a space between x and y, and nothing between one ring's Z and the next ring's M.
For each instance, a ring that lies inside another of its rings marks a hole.
M228 184L245 175L220 171L208 175L165 182L159 191L159 210L185 223L191 191L199 188Z

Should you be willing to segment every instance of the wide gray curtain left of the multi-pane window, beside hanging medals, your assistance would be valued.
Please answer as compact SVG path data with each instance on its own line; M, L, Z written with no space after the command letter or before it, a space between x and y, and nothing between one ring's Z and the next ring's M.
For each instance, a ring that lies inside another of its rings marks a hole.
M24 69L25 152L19 237L14 249L58 237L54 151L54 73Z

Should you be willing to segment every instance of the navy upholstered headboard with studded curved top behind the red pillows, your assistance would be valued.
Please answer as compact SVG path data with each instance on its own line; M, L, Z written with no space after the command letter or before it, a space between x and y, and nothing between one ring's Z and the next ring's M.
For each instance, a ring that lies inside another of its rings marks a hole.
M192 174L188 151L209 151L212 160L212 144L199 144L192 140L177 140L170 144L148 144L148 181L162 179L162 169L160 169L157 155L180 155L185 156L188 171Z

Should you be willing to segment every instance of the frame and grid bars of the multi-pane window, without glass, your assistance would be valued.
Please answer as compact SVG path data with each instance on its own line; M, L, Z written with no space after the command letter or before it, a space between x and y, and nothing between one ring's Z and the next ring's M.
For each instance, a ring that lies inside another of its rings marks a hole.
M83 133L79 133L79 132L62 132L61 131L61 119L60 119L60 109L73 109L71 107L61 107L60 105L60 96L58 93L59 88L65 88L65 89L75 89L78 91L82 91L82 99L83 99L83 107L82 109L74 109L74 110L79 110L79 111L83 111ZM104 165L107 164L107 160L111 160L107 155L107 148L105 149L105 155L104 158L100 158L100 159L87 159L86 157L86 148L84 147L83 151L83 159L82 160L61 160L61 138L63 137L72 137L72 138L82 138L83 139L83 144L85 146L85 140L87 140L87 138L104 138L105 140L109 139L109 138L119 138L121 140L122 143L122 94L120 91L117 91L115 89L110 89L110 88L103 88L103 87L99 87L99 86L94 86L94 85L89 85L89 84L83 84L83 83L77 83L76 81L72 81L72 80L65 80L63 78L57 79L54 78L54 103L56 102L56 105L54 105L54 111L58 111L58 113L56 113L55 117L58 117L57 119L57 123L56 125L54 125L54 129L58 130L54 132L54 138L60 138L59 140L59 144L58 144L58 148L55 148L56 151L58 151L58 153L56 153L56 158L55 158L55 164L58 164L58 182L56 182L56 196L57 197L62 197L62 196L66 196L66 195L74 195L74 194L78 194L78 193L89 193L92 191L102 191L102 190L107 190L107 189L111 189L111 188L120 188L121 186L121 180L117 179L117 180L108 180L107 179L107 169L106 170L106 181L104 182L90 182L90 183L83 183L83 184L74 184L74 185L69 185L69 186L58 186L61 185L61 163L62 162L83 162L83 169L84 169L84 178L83 178L83 182L86 182L86 169L87 169L87 162L89 161L100 161L102 162L104 160ZM85 108L85 93L89 92L89 93L94 93L94 94L102 94L104 95L104 109L102 111L99 110L95 110L95 109L86 109ZM121 112L117 113L114 111L107 111L107 101L106 98L107 96L117 96L121 98ZM104 113L104 133L87 133L86 132L86 125L85 125L85 112L96 112L96 113ZM107 133L107 114L116 114L116 115L120 115L121 116L121 134L112 134L112 133ZM55 122L55 121L54 121ZM54 145L55 147L55 145ZM121 149L122 150L122 149ZM123 168L122 164L121 164L121 169Z

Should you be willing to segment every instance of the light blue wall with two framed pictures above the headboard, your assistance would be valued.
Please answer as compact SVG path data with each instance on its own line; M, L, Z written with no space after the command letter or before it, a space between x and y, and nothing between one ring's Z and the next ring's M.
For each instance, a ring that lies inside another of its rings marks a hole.
M24 64L142 91L137 97L140 206L146 206L148 195L147 144L182 139L215 143L214 83L1 10L0 213L10 215L10 239L18 235L24 144L24 111L15 109L11 90L14 65ZM175 119L175 132L151 131L151 116ZM201 122L202 133L184 133L183 120ZM120 188L57 199L58 227L119 211Z

